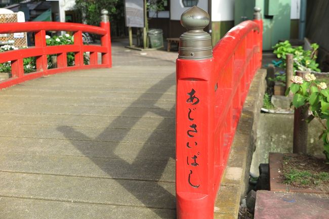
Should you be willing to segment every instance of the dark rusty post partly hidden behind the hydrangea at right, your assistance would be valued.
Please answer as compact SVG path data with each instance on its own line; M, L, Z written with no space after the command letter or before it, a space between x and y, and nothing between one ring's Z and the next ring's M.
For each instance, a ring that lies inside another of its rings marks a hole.
M296 75L303 77L307 71L296 71ZM301 106L295 109L294 114L294 139L293 139L293 153L307 152L307 122L308 107Z

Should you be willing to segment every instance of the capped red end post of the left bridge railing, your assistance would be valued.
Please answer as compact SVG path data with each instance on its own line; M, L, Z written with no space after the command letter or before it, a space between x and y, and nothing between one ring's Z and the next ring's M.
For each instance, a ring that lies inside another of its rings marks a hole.
M106 48L106 53L102 53L102 64L106 64L108 65L108 68L110 68L112 67L111 31L108 11L105 9L102 10L102 21L100 26L106 30L106 34L101 36L101 46Z

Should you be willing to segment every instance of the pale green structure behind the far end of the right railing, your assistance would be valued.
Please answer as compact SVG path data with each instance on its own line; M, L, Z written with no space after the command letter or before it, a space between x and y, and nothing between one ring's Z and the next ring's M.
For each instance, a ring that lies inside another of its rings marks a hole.
M234 25L253 20L255 6L262 10L264 51L272 50L279 40L290 38L291 0L235 0Z

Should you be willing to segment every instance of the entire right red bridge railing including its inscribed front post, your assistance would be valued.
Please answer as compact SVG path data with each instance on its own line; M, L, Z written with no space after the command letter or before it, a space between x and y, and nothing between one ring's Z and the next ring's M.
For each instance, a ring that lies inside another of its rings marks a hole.
M257 14L258 13L258 14ZM243 102L262 59L262 20L232 28L212 52L209 15L192 7L177 59L178 219L210 219Z

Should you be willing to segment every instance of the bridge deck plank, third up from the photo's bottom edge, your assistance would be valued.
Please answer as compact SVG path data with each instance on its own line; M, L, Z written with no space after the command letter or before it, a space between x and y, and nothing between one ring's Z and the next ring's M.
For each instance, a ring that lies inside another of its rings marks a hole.
M175 162L0 153L0 171L56 176L175 182Z

